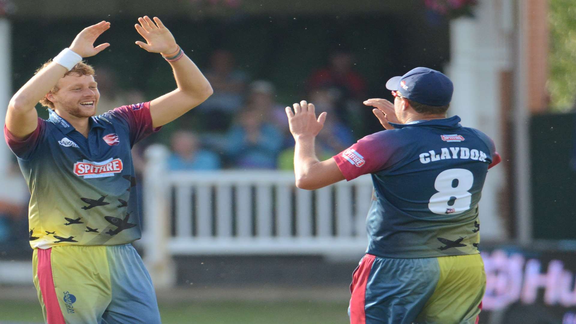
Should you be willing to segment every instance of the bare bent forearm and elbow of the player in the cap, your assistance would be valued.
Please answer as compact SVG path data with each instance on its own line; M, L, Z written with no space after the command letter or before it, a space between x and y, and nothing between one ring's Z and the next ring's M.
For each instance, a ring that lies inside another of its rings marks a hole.
M315 190L344 180L334 159L319 161L314 152L313 136L295 137L294 175L300 189Z

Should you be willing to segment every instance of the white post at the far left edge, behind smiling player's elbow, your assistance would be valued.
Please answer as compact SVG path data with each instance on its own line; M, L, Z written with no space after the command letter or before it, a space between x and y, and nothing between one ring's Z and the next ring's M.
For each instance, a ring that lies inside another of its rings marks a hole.
M0 18L0 125L4 125L6 118L6 108L10 101L12 85L12 66L10 66L10 52L12 51L10 42L10 21ZM2 127L3 128L3 127ZM8 175L8 165L12 159L12 153L8 149L5 141L0 141L0 183L6 183Z

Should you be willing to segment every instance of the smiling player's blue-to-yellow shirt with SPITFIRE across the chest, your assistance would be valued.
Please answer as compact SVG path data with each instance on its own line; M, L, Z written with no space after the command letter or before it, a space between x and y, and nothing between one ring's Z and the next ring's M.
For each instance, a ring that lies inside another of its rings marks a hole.
M18 141L4 136L31 193L32 248L118 245L141 238L131 148L157 131L150 103L122 106L89 119L88 138L50 111Z

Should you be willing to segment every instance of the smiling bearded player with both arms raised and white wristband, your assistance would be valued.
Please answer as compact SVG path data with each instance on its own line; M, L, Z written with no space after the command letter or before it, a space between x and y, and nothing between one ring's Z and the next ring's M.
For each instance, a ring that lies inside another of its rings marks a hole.
M172 66L177 89L146 103L94 116L100 93L82 63L110 28L82 30L10 100L4 135L32 195L34 284L44 319L60 323L160 323L156 295L130 244L141 237L130 149L212 94L160 19L138 18L136 42ZM37 102L49 108L40 119Z

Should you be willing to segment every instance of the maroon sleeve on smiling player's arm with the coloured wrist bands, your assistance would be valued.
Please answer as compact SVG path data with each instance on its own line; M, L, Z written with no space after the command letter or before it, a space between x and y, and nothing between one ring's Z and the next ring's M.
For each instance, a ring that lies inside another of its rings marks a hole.
M127 123L128 131L130 132L131 145L136 144L152 133L156 133L162 127L152 127L150 101L118 107L108 113Z

